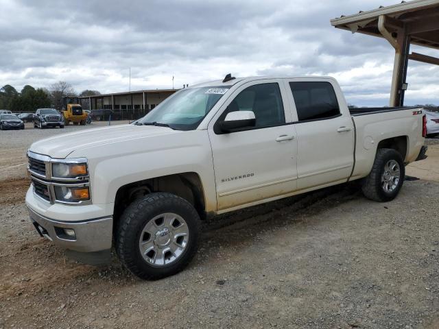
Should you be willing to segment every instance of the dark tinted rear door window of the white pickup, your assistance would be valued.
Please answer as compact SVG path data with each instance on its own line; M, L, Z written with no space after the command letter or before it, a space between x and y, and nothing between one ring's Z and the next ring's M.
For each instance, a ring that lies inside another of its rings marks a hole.
M299 121L329 119L340 114L337 96L329 82L289 82Z

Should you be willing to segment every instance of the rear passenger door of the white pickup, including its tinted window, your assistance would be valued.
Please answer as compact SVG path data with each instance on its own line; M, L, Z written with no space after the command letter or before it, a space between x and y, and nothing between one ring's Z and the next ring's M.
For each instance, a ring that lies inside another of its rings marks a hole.
M298 189L346 182L353 169L354 127L331 80L289 80L298 140ZM346 108L347 110L347 108Z

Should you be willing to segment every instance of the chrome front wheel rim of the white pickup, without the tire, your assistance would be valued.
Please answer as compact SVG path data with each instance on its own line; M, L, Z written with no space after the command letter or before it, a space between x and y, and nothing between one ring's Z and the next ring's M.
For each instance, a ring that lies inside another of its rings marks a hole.
M189 241L185 219L171 212L148 221L139 239L139 251L153 267L165 267L182 256Z

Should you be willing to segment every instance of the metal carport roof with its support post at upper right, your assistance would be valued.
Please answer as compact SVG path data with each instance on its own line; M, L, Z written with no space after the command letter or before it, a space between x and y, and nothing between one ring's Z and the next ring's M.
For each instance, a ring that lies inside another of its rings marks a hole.
M409 59L439 65L439 58L409 53L410 45L439 49L439 0L403 1L396 5L381 6L375 10L332 19L331 25L353 33L385 38L394 47L390 106L403 105Z

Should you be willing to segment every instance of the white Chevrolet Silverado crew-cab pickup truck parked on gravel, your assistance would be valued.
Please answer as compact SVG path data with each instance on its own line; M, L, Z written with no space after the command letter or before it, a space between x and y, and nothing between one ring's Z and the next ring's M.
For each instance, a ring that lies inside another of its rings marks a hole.
M193 258L207 216L359 179L394 199L425 158L425 124L421 108L349 109L331 77L226 75L130 125L32 144L26 204L76 256L114 246L135 275L163 278Z

